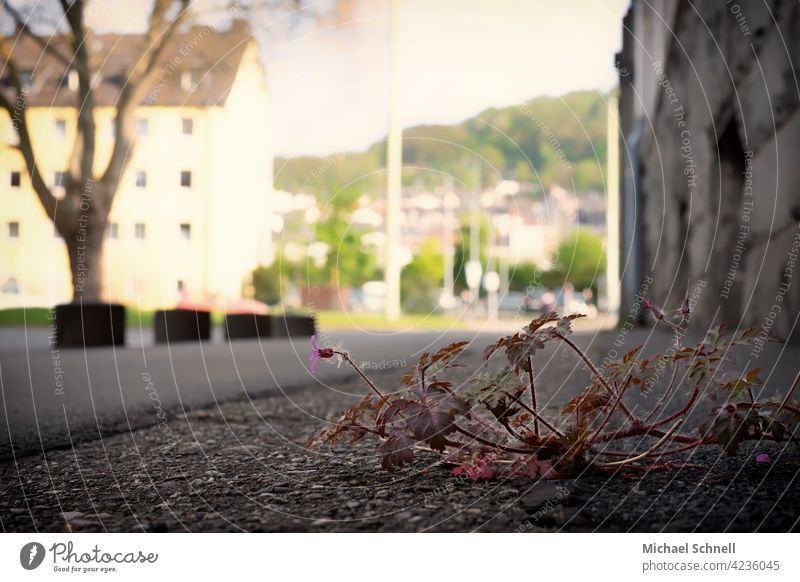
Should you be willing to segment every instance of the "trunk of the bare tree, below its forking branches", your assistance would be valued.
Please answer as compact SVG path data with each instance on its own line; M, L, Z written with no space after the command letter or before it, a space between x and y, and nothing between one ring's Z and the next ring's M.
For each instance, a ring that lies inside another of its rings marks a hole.
M72 302L102 300L103 243L108 226L109 189L102 183L93 183L82 191L65 197L75 201L68 207L60 206L57 228L69 255L72 276Z

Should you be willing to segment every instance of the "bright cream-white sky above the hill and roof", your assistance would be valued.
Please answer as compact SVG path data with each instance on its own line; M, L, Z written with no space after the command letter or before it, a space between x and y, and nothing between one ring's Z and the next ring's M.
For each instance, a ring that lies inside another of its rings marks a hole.
M202 11L219 1L197 3ZM307 4L324 13L333 2ZM386 135L391 0L351 2L338 23L305 18L287 29L284 15L264 11L253 18L276 155L359 151ZM611 89L629 2L397 0L400 124L457 123L540 95ZM114 6L98 13L103 28L129 29L147 12L141 0Z

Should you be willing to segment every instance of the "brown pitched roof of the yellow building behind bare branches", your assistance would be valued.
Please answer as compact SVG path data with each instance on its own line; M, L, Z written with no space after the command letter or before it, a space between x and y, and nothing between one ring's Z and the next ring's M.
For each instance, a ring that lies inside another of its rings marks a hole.
M229 29L208 26L179 30L165 47L158 67L161 72L143 98L143 106L208 107L223 105L236 78L248 41L246 22L236 20ZM33 107L73 107L76 93L69 86L64 65L27 35L10 39L11 58L22 74L30 75L28 104ZM71 55L69 39L52 37L51 45ZM89 38L89 54L95 80L95 104L113 106L128 71L145 54L142 34L102 34ZM8 90L7 71L0 88Z

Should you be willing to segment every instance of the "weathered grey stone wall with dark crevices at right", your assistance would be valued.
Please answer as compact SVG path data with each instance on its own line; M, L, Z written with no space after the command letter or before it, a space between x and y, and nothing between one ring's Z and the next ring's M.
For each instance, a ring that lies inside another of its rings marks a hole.
M669 5L635 1L620 53L624 300L652 278L647 294L677 305L691 277L696 324L786 337L800 311L800 3Z

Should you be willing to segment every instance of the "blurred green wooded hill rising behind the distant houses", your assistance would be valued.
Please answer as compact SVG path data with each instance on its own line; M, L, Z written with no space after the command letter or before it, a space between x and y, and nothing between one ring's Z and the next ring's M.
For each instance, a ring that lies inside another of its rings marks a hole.
M350 188L382 192L386 140L364 152L275 160L275 187L309 193ZM606 102L596 91L538 97L490 108L457 125L420 125L403 132L403 182L435 186L446 175L467 186L480 164L484 185L501 178L600 190L606 159Z

